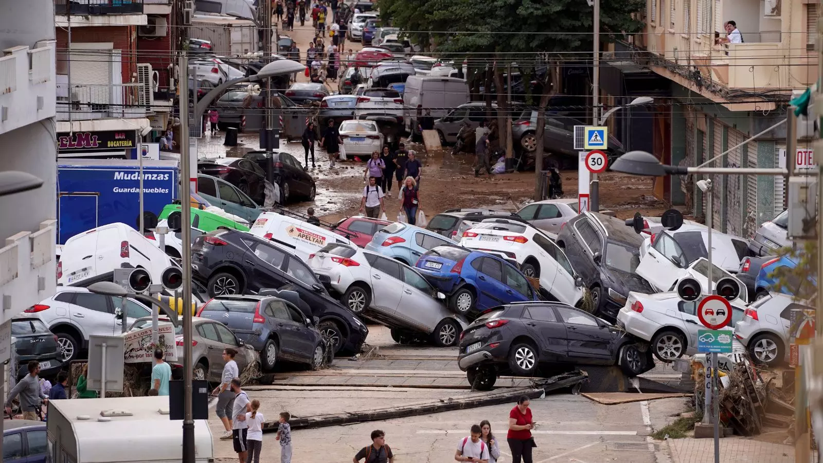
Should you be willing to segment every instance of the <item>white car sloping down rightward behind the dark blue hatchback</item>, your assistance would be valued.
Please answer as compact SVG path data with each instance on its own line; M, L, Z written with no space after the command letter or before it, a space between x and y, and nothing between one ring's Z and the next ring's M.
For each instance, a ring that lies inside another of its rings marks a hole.
M583 299L583 280L565 252L528 223L487 218L463 232L460 246L509 260L527 277L538 278L540 286L560 302L577 306Z

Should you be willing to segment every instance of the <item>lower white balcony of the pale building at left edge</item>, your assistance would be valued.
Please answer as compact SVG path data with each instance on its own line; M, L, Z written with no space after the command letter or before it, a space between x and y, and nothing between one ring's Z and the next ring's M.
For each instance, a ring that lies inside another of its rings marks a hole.
M9 236L0 248L0 323L54 294L56 223L47 220L36 232Z

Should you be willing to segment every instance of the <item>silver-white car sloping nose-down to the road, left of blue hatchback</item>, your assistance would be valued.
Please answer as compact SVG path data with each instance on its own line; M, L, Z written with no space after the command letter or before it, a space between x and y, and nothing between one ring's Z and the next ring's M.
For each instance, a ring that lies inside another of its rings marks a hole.
M309 267L331 292L342 295L344 306L391 328L395 341L422 333L441 347L453 346L468 326L421 274L384 255L330 244L309 257Z

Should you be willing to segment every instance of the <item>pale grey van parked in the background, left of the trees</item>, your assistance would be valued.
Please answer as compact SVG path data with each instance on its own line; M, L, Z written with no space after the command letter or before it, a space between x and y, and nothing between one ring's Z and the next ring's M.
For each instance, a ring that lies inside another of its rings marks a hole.
M449 108L469 101L468 82L457 77L409 76L403 91L403 120L407 132L417 127L417 108L431 108L435 119L443 117Z

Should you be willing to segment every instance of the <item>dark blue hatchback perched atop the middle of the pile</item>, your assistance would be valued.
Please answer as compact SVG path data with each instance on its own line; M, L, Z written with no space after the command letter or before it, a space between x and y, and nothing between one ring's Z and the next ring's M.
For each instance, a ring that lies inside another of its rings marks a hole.
M417 269L435 288L449 295L449 308L470 318L511 302L539 301L528 279L495 255L456 245L428 250Z

